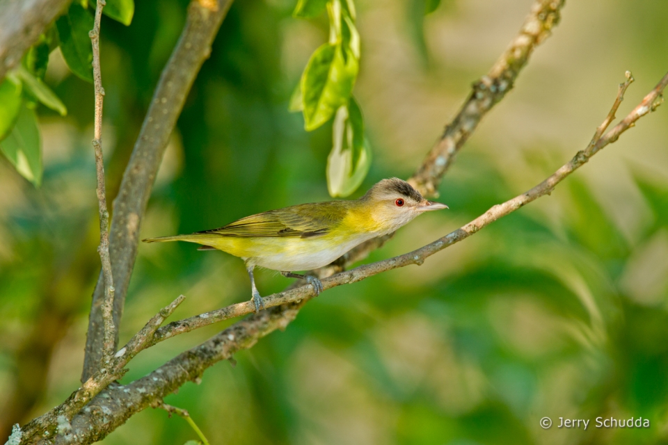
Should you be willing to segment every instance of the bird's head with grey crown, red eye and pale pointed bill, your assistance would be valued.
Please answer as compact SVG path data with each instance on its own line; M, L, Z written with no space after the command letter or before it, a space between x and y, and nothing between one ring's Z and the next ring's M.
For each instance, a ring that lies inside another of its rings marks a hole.
M411 184L399 178L383 179L360 198L374 220L393 232L420 213L447 209L440 202L425 200Z

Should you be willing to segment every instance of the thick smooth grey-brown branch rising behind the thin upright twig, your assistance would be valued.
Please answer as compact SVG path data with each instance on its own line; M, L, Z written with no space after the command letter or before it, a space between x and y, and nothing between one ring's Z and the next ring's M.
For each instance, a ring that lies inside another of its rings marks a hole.
M132 157L125 169L118 196L113 202L109 247L116 284L113 323L117 327L137 255L139 225L155 175L186 96L202 63L211 53L211 44L231 4L232 0L191 0L183 32L160 76ZM100 275L90 308L82 382L97 371L102 355L103 283ZM118 343L118 330L115 343Z

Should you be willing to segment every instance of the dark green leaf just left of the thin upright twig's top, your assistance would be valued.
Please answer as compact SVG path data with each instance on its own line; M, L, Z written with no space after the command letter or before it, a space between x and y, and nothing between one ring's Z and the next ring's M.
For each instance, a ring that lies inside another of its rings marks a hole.
M85 81L93 82L93 45L88 31L93 29L93 16L79 3L72 3L67 14L56 20L63 58L70 70Z

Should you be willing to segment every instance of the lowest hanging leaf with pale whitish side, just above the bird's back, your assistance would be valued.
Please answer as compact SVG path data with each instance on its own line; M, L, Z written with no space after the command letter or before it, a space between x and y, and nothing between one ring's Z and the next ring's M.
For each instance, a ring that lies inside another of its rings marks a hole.
M351 97L334 119L333 147L327 158L327 188L332 197L345 197L357 190L369 172L371 149L364 137L362 113Z

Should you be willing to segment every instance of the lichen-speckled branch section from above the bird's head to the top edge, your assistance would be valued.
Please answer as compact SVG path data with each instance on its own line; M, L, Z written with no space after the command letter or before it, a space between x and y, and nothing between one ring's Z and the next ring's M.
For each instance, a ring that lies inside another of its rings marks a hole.
M466 143L480 120L513 88L529 56L546 38L561 18L564 0L536 0L520 32L491 70L473 84L467 101L455 118L445 126L434 148L415 175L408 179L423 195L438 195L438 184L450 168L454 156Z

